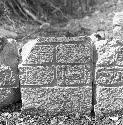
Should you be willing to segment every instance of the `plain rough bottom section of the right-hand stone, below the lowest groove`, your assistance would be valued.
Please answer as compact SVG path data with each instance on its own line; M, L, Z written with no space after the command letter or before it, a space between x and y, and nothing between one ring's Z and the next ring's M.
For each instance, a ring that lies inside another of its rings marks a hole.
M111 114L123 108L123 87L101 87L96 90L95 111L98 116L100 113Z

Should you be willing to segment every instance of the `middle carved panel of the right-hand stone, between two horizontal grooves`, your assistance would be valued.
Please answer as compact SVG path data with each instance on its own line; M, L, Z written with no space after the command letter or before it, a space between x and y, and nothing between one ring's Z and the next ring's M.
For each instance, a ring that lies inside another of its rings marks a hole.
M123 67L96 68L96 84L105 87L122 86Z

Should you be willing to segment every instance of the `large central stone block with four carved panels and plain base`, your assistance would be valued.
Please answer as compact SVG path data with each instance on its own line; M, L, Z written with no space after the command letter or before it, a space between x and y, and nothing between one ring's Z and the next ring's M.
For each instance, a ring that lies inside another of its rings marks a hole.
M20 67L23 108L90 112L91 50L86 37L40 38Z

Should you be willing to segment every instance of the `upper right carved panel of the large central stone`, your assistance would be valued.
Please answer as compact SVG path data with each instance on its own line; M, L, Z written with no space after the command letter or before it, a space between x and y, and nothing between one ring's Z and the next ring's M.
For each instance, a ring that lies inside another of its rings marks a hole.
M91 62L91 50L86 44L60 44L56 46L57 63L83 63Z

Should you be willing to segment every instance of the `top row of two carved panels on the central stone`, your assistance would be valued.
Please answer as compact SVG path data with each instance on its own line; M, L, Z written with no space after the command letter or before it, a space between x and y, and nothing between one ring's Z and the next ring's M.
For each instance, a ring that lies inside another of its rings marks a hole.
M55 55L54 55L55 50ZM89 47L83 44L36 45L25 64L88 63L91 62ZM56 59L53 58L55 56Z

